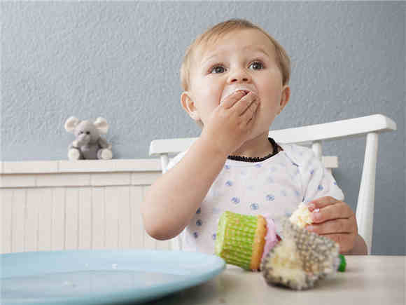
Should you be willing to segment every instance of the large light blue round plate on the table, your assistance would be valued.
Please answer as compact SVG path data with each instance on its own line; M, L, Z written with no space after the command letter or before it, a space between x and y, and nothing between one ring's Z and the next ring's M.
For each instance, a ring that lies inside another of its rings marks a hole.
M214 278L220 257L197 252L71 250L0 255L1 304L132 304Z

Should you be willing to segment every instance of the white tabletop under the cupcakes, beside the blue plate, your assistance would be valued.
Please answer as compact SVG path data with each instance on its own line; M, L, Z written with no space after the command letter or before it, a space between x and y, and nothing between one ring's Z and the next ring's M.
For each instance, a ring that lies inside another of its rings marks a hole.
M406 256L346 256L346 271L311 290L269 286L262 273L228 265L207 283L148 304L405 304Z

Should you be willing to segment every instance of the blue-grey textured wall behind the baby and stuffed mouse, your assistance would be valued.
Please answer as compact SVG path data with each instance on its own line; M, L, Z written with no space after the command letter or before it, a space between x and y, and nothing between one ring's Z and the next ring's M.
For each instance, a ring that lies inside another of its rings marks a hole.
M179 67L197 34L246 18L290 54L290 103L272 128L384 114L376 255L405 255L405 3L3 2L1 160L66 159L71 115L104 116L116 158L148 158L156 138L197 136L179 103ZM337 182L358 198L365 140L325 144Z

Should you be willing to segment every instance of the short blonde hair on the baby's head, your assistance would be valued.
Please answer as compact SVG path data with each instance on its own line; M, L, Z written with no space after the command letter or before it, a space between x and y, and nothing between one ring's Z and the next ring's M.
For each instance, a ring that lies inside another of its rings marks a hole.
M225 22L218 23L214 27L211 27L206 32L193 41L193 43L186 49L185 56L183 57L183 62L181 65L181 86L183 90L188 91L190 86L190 69L193 62L193 53L196 48L204 43L209 43L216 41L224 34L228 34L235 29L258 29L260 32L265 34L275 47L276 53L276 63L279 66L282 74L282 84L283 86L289 83L290 79L290 58L286 50L281 46L281 44L276 41L272 36L270 36L263 29L257 25L244 19L230 19Z

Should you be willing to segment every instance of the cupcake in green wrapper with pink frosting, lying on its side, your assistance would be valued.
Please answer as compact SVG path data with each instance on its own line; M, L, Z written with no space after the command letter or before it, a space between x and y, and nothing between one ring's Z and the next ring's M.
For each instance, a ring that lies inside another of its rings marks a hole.
M272 219L225 211L218 221L215 253L228 264L258 271L265 253L279 240Z

